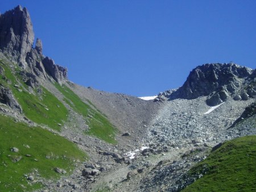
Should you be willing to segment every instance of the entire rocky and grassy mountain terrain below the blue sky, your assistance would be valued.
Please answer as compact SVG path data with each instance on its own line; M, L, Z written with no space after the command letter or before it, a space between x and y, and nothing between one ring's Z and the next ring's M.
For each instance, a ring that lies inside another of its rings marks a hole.
M197 66L144 101L69 81L33 44L26 8L0 15L0 191L253 190L256 69Z

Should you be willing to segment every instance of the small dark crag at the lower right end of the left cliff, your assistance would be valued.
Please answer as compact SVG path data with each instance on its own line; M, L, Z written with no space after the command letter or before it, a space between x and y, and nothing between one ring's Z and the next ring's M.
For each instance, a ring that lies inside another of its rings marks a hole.
M45 57L43 59L43 66L49 76L52 76L55 81L61 83L61 81L67 79L68 69L63 68L60 65L56 65L55 62L49 57Z

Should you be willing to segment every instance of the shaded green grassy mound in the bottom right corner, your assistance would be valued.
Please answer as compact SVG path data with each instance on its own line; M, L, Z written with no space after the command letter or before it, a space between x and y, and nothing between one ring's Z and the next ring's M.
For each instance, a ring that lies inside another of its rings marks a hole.
M206 174L183 191L255 191L256 136L226 141L189 171Z

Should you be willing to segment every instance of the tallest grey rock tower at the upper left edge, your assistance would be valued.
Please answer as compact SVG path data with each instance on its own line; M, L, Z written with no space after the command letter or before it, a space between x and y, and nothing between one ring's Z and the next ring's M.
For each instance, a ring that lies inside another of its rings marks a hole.
M0 15L0 49L9 53L24 68L33 42L34 31L26 8L17 6Z

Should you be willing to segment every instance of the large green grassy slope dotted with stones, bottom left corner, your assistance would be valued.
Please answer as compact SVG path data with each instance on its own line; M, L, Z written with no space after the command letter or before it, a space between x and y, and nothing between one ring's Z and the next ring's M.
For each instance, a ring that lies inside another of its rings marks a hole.
M19 152L11 152L10 148L13 147L18 148ZM19 157L22 158L14 162ZM64 137L0 115L0 191L38 189L42 187L40 183L29 185L24 174L29 176L36 169L39 177L57 178L60 174L54 168L62 168L70 173L74 160L83 161L85 158L85 153Z

